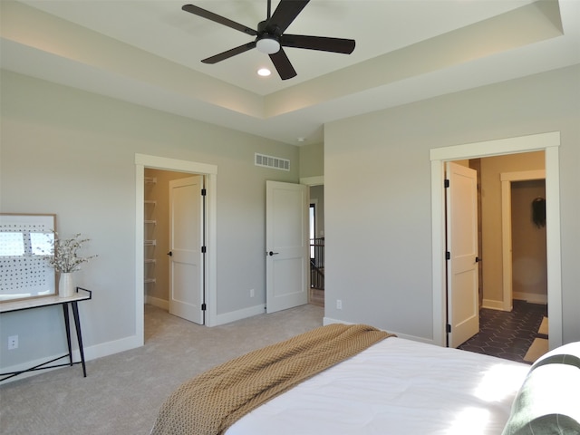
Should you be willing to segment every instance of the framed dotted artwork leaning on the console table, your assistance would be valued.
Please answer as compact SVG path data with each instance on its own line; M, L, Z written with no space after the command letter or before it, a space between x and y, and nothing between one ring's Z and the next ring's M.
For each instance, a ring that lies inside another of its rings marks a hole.
M56 294L54 214L0 213L0 303Z

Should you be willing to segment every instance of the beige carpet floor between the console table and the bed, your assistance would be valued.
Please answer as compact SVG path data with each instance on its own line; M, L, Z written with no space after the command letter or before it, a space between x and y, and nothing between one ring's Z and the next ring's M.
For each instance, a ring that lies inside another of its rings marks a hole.
M145 305L145 345L0 384L2 435L147 435L182 382L323 322L311 304L208 328ZM84 325L83 325L84 327Z

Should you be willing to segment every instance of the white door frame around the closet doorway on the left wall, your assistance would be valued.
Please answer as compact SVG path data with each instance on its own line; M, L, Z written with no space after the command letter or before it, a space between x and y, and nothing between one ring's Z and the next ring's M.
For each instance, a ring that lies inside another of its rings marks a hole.
M214 326L217 312L217 198L218 198L218 167L207 163L198 163L189 160L168 159L165 157L150 156L145 154L135 154L135 334L140 340L140 345L144 343L144 236L143 236L143 201L145 198L145 168L174 170L190 174L199 174L206 177L206 301L208 310L206 311L206 325Z

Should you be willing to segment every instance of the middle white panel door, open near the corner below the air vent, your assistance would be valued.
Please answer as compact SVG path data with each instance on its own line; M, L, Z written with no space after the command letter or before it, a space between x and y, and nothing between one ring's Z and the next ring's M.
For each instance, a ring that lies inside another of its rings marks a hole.
M266 181L266 312L308 303L308 187Z

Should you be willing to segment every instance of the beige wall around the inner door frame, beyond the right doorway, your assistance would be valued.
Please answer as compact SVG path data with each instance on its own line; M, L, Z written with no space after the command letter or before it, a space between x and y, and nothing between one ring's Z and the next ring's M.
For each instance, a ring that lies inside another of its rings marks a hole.
M544 151L481 159L481 218L484 306L503 301L501 179L504 172L545 169Z

